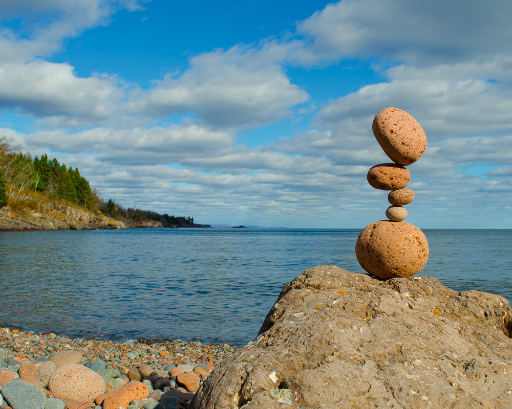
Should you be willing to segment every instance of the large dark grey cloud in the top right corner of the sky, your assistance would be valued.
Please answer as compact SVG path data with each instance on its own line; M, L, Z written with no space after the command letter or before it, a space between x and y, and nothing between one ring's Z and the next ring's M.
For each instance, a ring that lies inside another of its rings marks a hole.
M343 0L299 22L307 61L382 58L415 65L510 55L512 4L478 0Z

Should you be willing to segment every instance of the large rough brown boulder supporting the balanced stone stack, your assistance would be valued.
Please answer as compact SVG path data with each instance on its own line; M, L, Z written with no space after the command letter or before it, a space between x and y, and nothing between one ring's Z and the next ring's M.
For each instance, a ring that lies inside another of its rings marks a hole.
M511 314L502 297L431 277L316 266L283 288L260 335L191 407L510 408Z

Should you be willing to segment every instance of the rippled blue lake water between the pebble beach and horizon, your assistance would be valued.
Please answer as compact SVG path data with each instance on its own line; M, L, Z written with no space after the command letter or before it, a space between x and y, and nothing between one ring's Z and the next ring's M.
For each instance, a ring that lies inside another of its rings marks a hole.
M72 337L242 346L281 288L330 264L363 272L360 230L140 229L0 233L0 326ZM512 230L424 230L420 276L512 301Z

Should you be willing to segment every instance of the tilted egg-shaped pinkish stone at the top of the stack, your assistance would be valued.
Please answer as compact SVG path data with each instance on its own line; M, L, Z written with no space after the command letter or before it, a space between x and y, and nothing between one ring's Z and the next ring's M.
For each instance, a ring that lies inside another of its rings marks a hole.
M426 149L425 131L401 109L382 109L373 119L372 130L384 153L399 165L411 165Z

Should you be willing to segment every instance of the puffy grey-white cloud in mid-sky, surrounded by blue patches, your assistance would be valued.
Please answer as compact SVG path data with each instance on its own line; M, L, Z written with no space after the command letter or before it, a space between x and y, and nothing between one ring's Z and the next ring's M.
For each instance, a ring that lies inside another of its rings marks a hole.
M135 94L131 109L167 117L194 112L206 123L251 128L274 123L308 100L268 53L235 46L190 59L180 77L168 74L147 97Z

